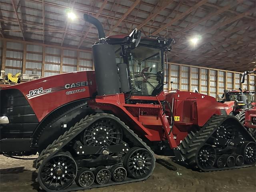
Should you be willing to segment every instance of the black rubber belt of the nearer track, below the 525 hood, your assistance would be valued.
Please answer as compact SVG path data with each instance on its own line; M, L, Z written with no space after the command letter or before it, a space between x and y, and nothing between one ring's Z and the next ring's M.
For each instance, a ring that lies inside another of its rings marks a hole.
M50 159L52 156L57 154L68 142L70 142L72 139L74 139L78 134L80 134L83 130L85 130L88 126L90 126L93 122L96 122L97 120L101 118L111 118L118 122L122 127L130 133L126 134L125 136L130 140L134 141L134 143L139 143L140 147L146 148L153 156L154 158L154 166L152 168L152 171L148 176L141 178L141 179L126 179L123 182L112 182L112 183L107 183L104 185L92 185L88 188L83 188L79 187L76 184L72 184L68 188L61 190L61 191L73 191L73 190L85 190L85 189L90 189L90 188L98 188L98 187L104 187L104 186L110 186L110 185L117 185L117 184L124 184L124 183L130 183L130 182L137 182L137 181L142 181L146 180L153 172L156 164L156 158L154 156L154 152L150 149L149 146L146 145L145 142L142 141L141 138L138 137L130 128L124 124L119 118L112 114L106 114L106 113L100 113L96 115L88 115L85 118L81 119L80 122L77 122L74 126L72 126L68 131L64 132L57 140L54 140L52 144L48 145L45 150L43 150L40 154L40 156L37 159L36 162L36 173L38 173L39 167L41 164L44 164L48 159ZM36 181L38 181L38 178L36 178Z

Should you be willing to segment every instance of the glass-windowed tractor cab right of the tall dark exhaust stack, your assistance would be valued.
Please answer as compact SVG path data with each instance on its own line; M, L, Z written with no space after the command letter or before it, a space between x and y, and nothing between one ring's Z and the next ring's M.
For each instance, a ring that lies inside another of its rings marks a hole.
M156 96L164 86L164 53L174 40L155 36L138 40L135 30L131 34L110 36L106 41L114 46L118 68L126 64L131 95ZM134 36L137 41L132 40Z

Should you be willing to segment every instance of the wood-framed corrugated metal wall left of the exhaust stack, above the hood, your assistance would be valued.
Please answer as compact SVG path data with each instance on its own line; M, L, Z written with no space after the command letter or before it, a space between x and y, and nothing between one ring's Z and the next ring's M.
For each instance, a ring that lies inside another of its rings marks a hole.
M3 47L4 42L6 43L4 67L6 73L31 74L32 70L36 68L38 74L46 77L65 72L93 69L92 55L89 51L9 39L0 42L1 47ZM0 53L2 56L2 48ZM2 57L0 62L2 62Z

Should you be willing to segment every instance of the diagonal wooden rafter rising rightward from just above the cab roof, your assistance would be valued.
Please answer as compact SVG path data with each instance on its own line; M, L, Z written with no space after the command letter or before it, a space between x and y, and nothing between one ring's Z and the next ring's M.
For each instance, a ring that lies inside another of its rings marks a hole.
M162 30L166 29L168 26L171 26L172 24L174 24L176 21L182 19L184 16L186 16L187 14L190 14L193 10L197 9L198 7L202 6L203 4L205 4L207 1L200 1L197 4L195 4L194 6L190 7L188 10L186 10L186 12L180 14L179 16L176 16L174 19L172 19L170 22L168 22L167 24L163 25L162 27L160 27L159 29L155 30L152 35L156 35L158 33L160 33Z

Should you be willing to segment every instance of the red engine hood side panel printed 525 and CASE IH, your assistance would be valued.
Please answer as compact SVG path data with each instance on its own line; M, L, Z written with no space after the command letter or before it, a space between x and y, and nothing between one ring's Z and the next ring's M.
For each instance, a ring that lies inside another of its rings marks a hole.
M3 88L8 89L20 90L40 122L59 106L92 97L96 93L95 72L64 73Z

